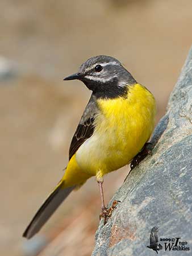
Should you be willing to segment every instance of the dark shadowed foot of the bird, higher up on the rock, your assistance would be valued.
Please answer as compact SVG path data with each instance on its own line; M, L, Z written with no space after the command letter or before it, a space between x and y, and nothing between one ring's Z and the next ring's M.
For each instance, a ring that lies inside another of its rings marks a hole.
M152 144L147 142L144 144L142 150L133 158L131 162L131 171L138 166L138 164L147 156L152 155Z

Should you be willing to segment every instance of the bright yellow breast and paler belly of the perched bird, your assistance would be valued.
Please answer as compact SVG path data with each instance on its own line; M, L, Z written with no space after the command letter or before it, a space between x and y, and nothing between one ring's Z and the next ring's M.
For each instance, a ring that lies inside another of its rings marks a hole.
M127 98L101 99L98 107L94 134L75 156L83 172L99 178L128 164L148 141L156 103L144 86L136 84L130 86Z

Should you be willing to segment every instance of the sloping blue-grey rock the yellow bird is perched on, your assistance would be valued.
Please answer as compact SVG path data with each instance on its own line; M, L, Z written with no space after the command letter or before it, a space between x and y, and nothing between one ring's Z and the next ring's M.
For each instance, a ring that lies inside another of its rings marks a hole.
M163 93L163 92L162 92ZM111 200L121 203L96 233L92 256L155 255L148 249L153 226L160 238L180 237L192 250L192 48L152 137L153 155L136 167ZM171 243L172 245L172 243Z

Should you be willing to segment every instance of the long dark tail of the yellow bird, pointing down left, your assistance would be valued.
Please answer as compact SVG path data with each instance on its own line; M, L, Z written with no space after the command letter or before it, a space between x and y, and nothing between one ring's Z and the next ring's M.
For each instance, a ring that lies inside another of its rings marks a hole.
M30 239L33 237L47 220L52 216L53 212L60 206L62 201L72 192L76 186L64 188L62 186L62 180L57 185L55 190L49 195L47 200L41 205L40 209L35 214L34 218L27 226L27 229L23 233L23 237Z

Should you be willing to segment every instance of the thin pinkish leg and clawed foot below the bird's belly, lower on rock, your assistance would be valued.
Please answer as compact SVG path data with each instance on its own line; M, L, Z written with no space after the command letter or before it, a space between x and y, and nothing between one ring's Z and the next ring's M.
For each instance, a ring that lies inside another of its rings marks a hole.
M99 185L99 191L101 195L101 213L99 215L99 220L101 220L101 218L104 218L104 225L105 225L107 223L107 218L111 217L113 210L116 208L116 205L120 203L120 201L115 200L112 203L112 206L107 209L105 206L104 195L103 195L103 179L98 180L97 183Z

